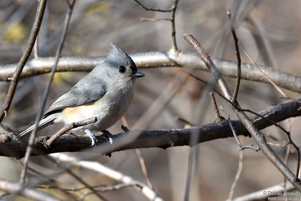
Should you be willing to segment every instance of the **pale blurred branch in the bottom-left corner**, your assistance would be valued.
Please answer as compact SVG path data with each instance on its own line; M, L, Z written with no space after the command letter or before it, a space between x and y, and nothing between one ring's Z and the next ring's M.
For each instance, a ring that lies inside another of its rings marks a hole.
M29 199L39 201L60 201L57 197L49 195L43 191L37 190L33 187L27 187L20 183L11 182L8 180L0 179L0 189L2 191L17 194Z

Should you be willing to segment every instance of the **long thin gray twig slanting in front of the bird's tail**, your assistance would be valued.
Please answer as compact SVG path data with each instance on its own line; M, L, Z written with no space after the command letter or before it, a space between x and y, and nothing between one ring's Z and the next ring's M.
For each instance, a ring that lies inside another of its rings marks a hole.
M48 83L47 83L47 86L46 86L46 89L45 89L45 92L44 92L44 95L43 95L43 98L42 98L42 102L41 102L38 114L36 116L35 127L33 128L32 132L30 134L30 138L29 138L29 141L28 141L28 146L26 148L26 154L25 154L25 157L24 157L24 166L23 166L23 169L22 169L21 175L20 175L20 182L22 182L22 183L25 182L26 169L27 169L27 165L28 165L29 156L31 155L31 152L32 152L32 146L33 146L33 143L34 143L34 139L36 137L36 131L37 131L37 128L38 128L38 124L39 124L39 121L41 120L42 115L44 113L44 108L45 108L45 105L46 105L46 100L47 100L47 96L48 96L49 89L50 89L50 86L51 86L51 82L53 80L54 72L57 68L57 63L58 63L58 60L60 58L61 51L63 49L63 45L64 45L64 41L65 41L65 38L66 38L66 35L67 35L67 29L68 29L68 25L69 25L69 22L70 22L70 18L71 18L71 14L72 14L72 11L73 11L73 6L75 4L75 1L76 0L73 0L72 4L68 8L66 18L65 18L65 22L64 22L63 33L62 33L62 36L61 36L59 46L57 48L57 52L55 54L55 62L52 66L51 75L50 75L50 78L48 80Z

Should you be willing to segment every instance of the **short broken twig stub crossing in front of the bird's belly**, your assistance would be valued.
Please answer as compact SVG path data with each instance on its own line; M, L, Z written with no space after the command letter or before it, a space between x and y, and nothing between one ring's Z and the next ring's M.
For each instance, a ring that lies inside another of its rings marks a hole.
M57 131L57 133L55 133L49 140L47 140L47 146L50 147L51 144L53 144L55 142L55 140L57 140L59 137L61 137L63 134L65 134L67 131L73 129L73 128L77 128L80 126L85 126L87 124L91 124L97 121L97 118L89 118L83 121L78 121L78 122L73 122L71 124L68 124L66 126L64 126L61 130Z

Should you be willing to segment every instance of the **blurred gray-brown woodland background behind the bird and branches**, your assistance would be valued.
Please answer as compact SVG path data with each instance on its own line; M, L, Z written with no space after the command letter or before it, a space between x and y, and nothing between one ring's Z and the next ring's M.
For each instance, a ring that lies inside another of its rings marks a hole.
M174 4L172 0L141 0L148 8L168 9ZM26 42L36 15L36 0L1 0L0 1L0 64L17 63L26 46ZM206 49L210 56L236 61L234 41L230 32L226 11L231 8L235 17L234 27L239 46L243 46L257 64L271 66L281 71L301 76L300 30L301 2L299 0L179 0L175 13L175 28L178 48L183 51L194 50L183 39L184 33L191 33ZM64 24L67 4L63 0L47 2L45 15L39 32L39 56L54 56ZM169 21L141 21L141 17L169 18L170 13L145 11L133 0L77 0L71 17L68 35L62 56L102 56L106 55L110 41L116 43L128 54L148 51L168 51L171 47L171 29ZM30 58L33 58L33 53ZM243 62L250 63L241 51ZM147 108L161 95L170 82L182 79L182 86L170 99L169 103L157 115L154 121L148 122L147 130L176 129L185 127L185 123L175 117L194 122L197 112L202 112L202 121L208 124L214 121L209 94L205 94L203 83L191 77L184 77L180 68L151 68L141 70L146 76L138 79L134 100L125 118L130 129L141 118ZM58 97L67 92L87 72L56 73L48 96L50 106ZM193 74L209 80L210 74L204 71L193 71ZM8 116L3 125L19 133L33 124L39 109L42 94L49 74L21 79L14 96ZM184 77L184 78L183 78ZM234 90L235 79L225 78L230 89ZM181 80L179 80L180 82ZM9 83L0 82L0 103L5 99ZM284 90L287 95L298 94ZM197 104L201 96L204 105L198 111ZM280 94L268 84L242 80L238 102L243 108L262 111L271 103L282 102ZM216 96L217 104L225 107L231 119L237 119L231 113L226 102ZM134 109L135 108L135 109ZM225 116L221 111L221 115ZM287 128L291 122L291 133L294 142L300 146L298 136L301 118L281 122ZM121 133L118 121L109 129L111 133ZM136 124L137 125L137 124ZM139 128L138 125L135 128ZM62 127L51 125L41 133L53 135ZM2 127L0 132L6 132ZM284 143L285 133L276 127L263 130L266 136L273 136ZM76 134L80 134L76 133ZM96 133L99 135L101 133ZM267 141L275 142L267 137ZM245 138L244 144L254 143ZM194 161L194 175L191 185L190 200L226 200L238 169L239 146L234 138L219 139L198 144ZM140 149L145 160L149 177L154 189L165 200L183 200L185 193L186 170L190 147L172 147L168 149ZM284 160L286 147L273 147ZM144 174L135 150L114 152L109 158L100 154L70 153L84 160L101 162L110 168L134 177L146 183ZM18 181L22 160L0 157L0 177ZM56 165L41 156L30 157L29 166L38 172L57 180L63 188L82 187L74 178L61 171ZM296 169L296 152L292 150L288 167ZM72 170L90 185L118 184L109 177L95 172L73 167ZM247 149L244 151L244 165L234 197L251 193L284 181L282 174L263 155ZM49 179L29 171L29 184L50 185ZM68 199L58 190L42 189L48 193ZM81 196L82 192L75 192ZM103 194L108 200L147 200L132 187ZM21 197L10 199L23 200ZM86 200L97 200L89 195Z

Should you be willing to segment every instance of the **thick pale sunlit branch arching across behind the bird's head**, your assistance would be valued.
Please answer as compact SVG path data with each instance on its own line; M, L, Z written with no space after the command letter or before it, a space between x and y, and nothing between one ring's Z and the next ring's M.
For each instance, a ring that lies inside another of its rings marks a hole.
M156 68L156 67L187 67L208 71L205 64L200 61L195 53L181 52L172 55L170 52L143 52L130 54L138 68ZM106 57L61 57L57 64L59 71L92 71L95 66L104 61ZM223 76L236 78L237 62L221 58L211 58ZM54 57L45 57L29 60L21 74L21 77L31 77L43 73L49 73L54 63ZM17 64L8 64L0 66L0 80L8 80L14 73ZM260 66L265 74L279 87L301 93L301 77L279 71L275 68ZM260 73L253 64L241 64L241 79L256 82L269 83L265 76Z

